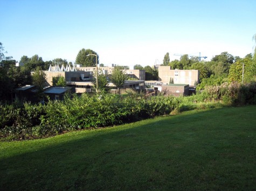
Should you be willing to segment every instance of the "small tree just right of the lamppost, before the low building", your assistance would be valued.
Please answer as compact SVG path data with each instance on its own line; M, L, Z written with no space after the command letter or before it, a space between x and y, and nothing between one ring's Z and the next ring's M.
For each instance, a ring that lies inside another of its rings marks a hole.
M125 71L122 71L121 69L115 67L114 70L112 71L112 75L110 77L112 83L119 89L119 94L120 94L120 89L123 86L125 80L128 79L128 76Z

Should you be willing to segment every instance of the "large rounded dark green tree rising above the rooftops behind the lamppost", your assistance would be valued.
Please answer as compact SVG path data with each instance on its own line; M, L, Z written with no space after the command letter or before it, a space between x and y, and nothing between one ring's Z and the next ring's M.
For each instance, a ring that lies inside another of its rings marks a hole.
M96 56L87 56L89 54L97 55L97 63L99 63L99 55L91 49L81 49L75 59L77 64L81 64L83 67L95 67Z

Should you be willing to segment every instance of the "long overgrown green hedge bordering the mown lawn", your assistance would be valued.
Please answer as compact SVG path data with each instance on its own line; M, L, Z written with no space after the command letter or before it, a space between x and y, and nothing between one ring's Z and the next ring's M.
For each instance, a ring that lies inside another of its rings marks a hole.
M36 138L70 130L114 126L157 115L205 108L207 102L256 104L255 90L256 83L224 83L208 86L190 97L130 94L119 98L111 94L89 96L85 93L72 99L65 97L64 101L49 101L45 105L0 105L0 137Z

